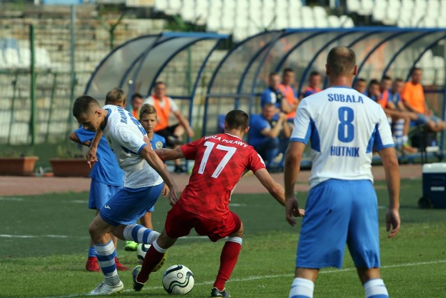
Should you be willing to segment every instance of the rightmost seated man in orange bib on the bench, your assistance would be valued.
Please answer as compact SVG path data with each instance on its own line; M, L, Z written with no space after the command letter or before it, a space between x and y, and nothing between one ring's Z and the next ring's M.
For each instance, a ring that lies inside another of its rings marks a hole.
M415 120L417 124L424 125L426 131L438 133L445 129L445 122L436 117L432 110L427 107L421 80L422 69L413 68L410 82L406 82L401 91L401 99L408 111L417 113L417 119Z

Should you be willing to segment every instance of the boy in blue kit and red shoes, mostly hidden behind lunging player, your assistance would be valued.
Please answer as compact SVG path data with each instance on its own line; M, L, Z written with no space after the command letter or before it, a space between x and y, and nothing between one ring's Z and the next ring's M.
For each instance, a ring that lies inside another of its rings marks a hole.
M105 104L119 105L125 107L125 97L122 98L119 94L114 92L107 93ZM84 128L78 128L70 135L70 140L83 144L87 147L90 146L91 140L95 137L94 131L87 131ZM95 209L98 214L101 207L112 198L112 196L123 187L123 174L124 172L118 165L116 157L105 140L105 137L101 137L98 144L98 162L94 163L91 168L90 177L90 196L89 196L89 209ZM110 234L113 240L113 244L116 251L118 239ZM130 268L122 265L117 255L115 255L116 269L129 270ZM87 271L100 271L98 265L98 258L96 258L96 250L93 245L93 240L90 240L89 256L85 265Z

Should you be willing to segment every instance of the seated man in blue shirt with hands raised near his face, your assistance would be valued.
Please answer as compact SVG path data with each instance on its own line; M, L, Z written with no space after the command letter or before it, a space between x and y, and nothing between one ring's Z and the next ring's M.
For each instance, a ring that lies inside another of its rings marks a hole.
M283 168L283 155L279 166L273 161L280 153L285 153L291 135L286 114L277 114L274 104L265 103L261 114L252 115L249 127L248 144L266 161L268 171L279 172Z

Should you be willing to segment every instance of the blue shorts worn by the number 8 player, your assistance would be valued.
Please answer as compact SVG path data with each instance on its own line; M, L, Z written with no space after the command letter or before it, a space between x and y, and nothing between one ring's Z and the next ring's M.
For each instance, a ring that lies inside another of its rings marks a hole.
M369 180L330 179L309 191L296 267L342 267L348 245L356 267L380 267L378 204Z

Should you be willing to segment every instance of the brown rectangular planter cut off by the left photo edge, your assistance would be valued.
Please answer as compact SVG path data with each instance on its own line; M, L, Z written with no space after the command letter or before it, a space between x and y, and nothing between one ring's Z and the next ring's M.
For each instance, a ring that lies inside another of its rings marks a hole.
M0 175L31 176L38 156L0 157Z

